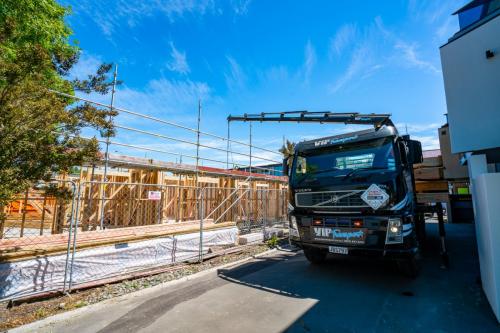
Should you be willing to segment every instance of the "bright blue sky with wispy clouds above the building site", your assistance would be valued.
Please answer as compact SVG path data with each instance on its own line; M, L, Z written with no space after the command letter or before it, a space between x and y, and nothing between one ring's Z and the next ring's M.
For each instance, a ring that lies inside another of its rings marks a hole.
M102 61L117 63L124 84L116 106L195 127L201 99L201 129L222 136L228 114L303 109L391 113L399 130L407 127L425 148L439 146L437 128L445 121L439 46L458 30L451 13L466 2L62 1L72 7L68 22L83 50L73 75L84 76ZM194 133L130 116L121 115L116 122L195 139ZM256 145L274 150L283 137L299 141L357 128L256 123L253 137ZM248 124L234 123L231 132L248 141ZM123 130L114 140L195 153L184 143ZM202 141L225 147L213 138ZM237 145L233 149L247 152ZM111 151L178 159L123 147ZM201 153L225 160L220 151ZM269 152L258 155L280 159ZM233 160L248 163L238 155Z

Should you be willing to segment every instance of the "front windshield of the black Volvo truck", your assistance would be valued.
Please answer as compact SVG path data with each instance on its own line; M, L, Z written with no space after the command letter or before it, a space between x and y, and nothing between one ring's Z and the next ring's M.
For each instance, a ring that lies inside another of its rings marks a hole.
M396 170L390 137L299 152L292 168L292 182L300 185L322 177L346 179L357 173L381 170Z

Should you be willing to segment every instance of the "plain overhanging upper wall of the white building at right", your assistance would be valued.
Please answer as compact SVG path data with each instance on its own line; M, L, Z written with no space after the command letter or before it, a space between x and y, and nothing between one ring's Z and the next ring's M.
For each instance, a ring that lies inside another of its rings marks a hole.
M440 51L452 152L500 147L500 16Z

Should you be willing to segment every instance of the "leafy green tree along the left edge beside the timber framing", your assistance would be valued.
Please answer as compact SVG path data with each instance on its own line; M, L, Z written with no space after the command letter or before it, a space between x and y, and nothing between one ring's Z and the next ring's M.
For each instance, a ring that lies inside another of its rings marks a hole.
M98 142L82 139L82 128L113 134L114 113L51 92L106 94L112 85L111 64L68 78L80 54L68 14L55 0L0 1L0 215L34 182L97 159Z

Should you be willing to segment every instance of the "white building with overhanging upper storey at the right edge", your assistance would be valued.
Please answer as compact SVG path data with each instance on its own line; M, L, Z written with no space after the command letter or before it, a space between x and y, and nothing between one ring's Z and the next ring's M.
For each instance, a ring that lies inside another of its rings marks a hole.
M441 51L451 150L467 157L483 289L500 321L500 0L459 9Z

